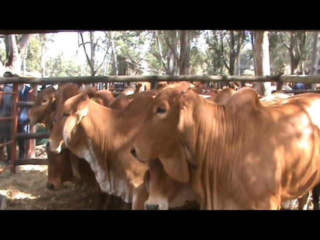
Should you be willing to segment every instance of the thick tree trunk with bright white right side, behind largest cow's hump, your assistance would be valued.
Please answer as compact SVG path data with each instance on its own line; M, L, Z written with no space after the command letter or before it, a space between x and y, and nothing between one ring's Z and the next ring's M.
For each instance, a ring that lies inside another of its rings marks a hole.
M269 41L267 31L256 31L254 39L254 72L256 76L270 75ZM255 82L260 95L271 94L271 82Z

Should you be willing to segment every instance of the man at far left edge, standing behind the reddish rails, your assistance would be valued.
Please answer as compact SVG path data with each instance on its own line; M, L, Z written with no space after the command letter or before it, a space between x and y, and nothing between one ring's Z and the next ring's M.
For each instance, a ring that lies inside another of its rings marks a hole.
M4 72L3 77L12 77L12 73L7 71ZM12 92L13 91L13 84L8 83L4 84L3 92ZM6 117L12 115L12 94L3 94L2 101L0 105L0 117ZM11 121L12 119L8 120L0 120L0 143L7 142L11 140ZM11 145L6 145L6 152L7 152L7 160L5 161L6 164L11 163Z

